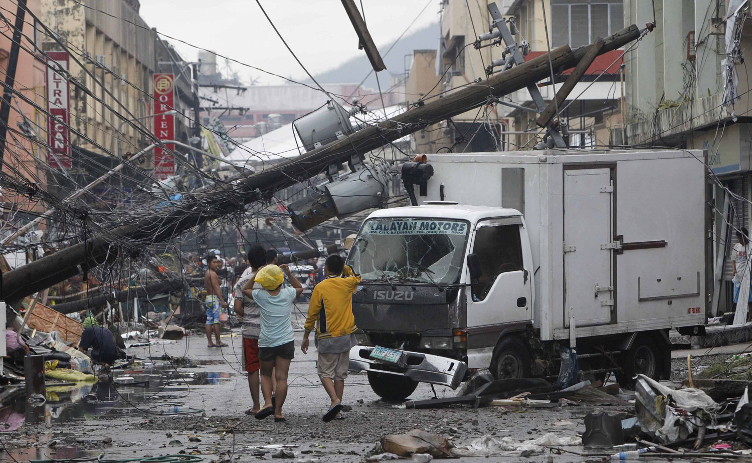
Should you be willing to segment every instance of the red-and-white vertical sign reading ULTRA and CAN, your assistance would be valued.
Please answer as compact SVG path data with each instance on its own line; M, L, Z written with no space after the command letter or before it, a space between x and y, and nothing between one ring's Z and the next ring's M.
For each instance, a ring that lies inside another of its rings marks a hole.
M53 169L70 169L71 129L70 92L68 91L68 52L47 52L47 164ZM62 70L56 72L55 70ZM63 72L65 71L65 72Z

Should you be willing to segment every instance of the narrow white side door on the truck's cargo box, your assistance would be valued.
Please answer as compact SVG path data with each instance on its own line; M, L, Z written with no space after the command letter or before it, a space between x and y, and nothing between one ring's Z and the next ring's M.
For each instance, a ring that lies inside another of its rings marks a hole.
M611 168L564 170L564 320L577 326L615 320Z

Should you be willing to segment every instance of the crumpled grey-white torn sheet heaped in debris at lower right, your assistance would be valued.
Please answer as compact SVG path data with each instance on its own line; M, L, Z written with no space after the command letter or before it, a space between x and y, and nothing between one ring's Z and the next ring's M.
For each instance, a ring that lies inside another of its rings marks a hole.
M638 374L635 392L640 428L661 442L686 439L703 425L715 427L718 404L700 389L674 390Z

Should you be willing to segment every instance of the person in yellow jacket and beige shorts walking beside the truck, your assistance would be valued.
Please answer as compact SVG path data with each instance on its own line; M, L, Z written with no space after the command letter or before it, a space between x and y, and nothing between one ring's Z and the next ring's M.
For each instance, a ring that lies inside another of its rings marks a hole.
M308 353L308 336L317 325L317 370L332 401L323 420L329 422L344 418L341 413L344 379L350 365L350 349L357 344L353 334L358 329L353 316L353 293L360 283L360 275L345 266L344 259L337 254L326 258L324 275L326 278L311 294L301 350Z

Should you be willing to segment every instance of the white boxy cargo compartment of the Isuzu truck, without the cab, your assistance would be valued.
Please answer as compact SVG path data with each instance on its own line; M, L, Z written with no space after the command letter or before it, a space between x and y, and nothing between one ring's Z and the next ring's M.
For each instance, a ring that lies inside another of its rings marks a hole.
M426 201L523 213L541 340L705 323L705 153L546 151L429 155Z

